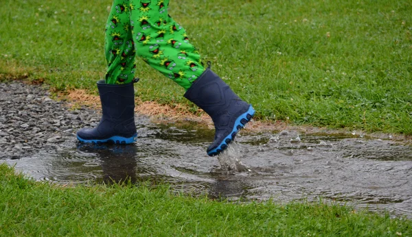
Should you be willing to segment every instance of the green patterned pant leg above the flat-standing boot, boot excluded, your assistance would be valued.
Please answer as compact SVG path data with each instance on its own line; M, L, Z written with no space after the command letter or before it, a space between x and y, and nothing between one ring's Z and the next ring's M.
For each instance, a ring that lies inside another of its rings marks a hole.
M106 84L128 84L135 75L135 47L130 27L129 0L114 0L104 41L108 64Z

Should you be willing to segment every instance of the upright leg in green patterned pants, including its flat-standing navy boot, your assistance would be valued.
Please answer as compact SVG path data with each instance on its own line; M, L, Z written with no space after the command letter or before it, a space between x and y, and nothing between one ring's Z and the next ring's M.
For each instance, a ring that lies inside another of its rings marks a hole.
M135 48L130 29L128 0L114 0L106 24L106 80L97 84L102 103L100 123L80 129L80 142L129 144L135 142Z

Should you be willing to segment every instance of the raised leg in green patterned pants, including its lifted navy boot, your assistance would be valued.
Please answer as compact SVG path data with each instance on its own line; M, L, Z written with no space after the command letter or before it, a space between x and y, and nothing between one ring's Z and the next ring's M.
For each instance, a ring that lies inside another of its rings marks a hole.
M169 0L130 0L130 25L137 55L187 91L185 97L214 121L214 142L209 155L225 149L255 114L223 80L205 70L185 29L168 15ZM196 83L194 81L196 80Z

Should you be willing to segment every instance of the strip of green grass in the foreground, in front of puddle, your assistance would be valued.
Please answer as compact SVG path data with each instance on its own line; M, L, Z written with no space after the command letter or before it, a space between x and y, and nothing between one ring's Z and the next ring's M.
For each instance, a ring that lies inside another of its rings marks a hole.
M168 186L62 188L0 164L0 236L411 236L412 221L323 203L238 203Z

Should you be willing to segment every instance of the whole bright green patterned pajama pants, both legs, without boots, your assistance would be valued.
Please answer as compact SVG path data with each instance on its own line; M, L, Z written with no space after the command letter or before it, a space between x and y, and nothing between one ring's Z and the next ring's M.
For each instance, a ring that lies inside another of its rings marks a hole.
M133 81L136 54L186 90L205 71L169 0L114 0L106 24L106 84Z

